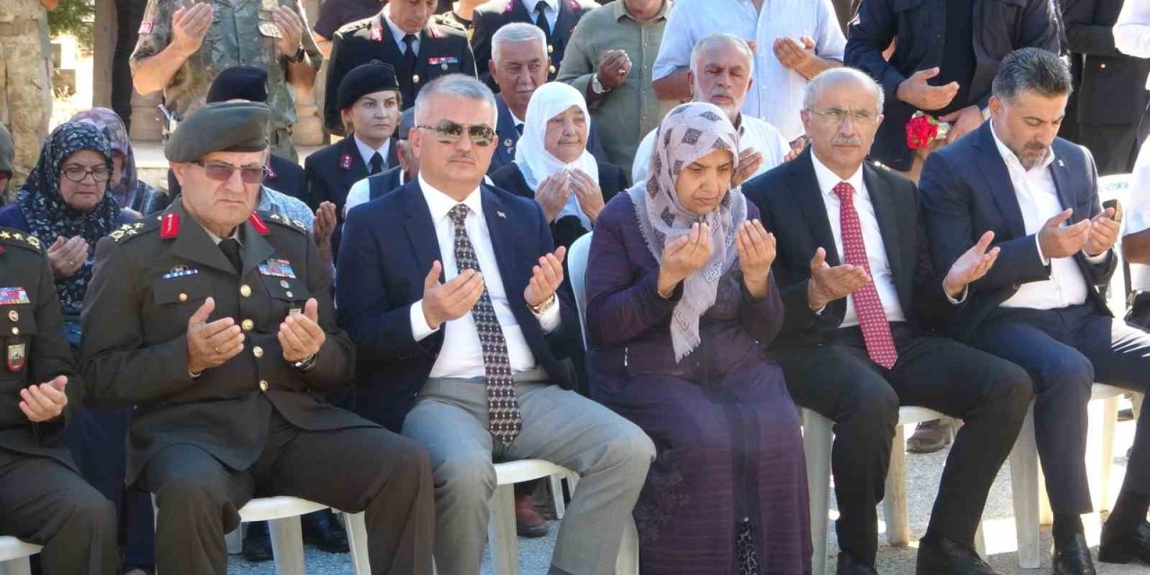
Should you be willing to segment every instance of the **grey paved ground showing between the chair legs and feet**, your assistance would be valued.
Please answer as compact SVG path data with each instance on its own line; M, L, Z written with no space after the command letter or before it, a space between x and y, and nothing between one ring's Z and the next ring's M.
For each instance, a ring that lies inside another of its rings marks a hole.
M1122 422L1118 425L1118 434L1116 436L1116 454L1120 455L1114 459L1114 483L1116 489L1118 482L1121 481L1122 475L1126 470L1126 450L1129 447L1134 435L1134 423ZM907 476L910 478L911 488L907 489L910 493L910 514L911 514L911 539L912 544L910 547L891 547L887 544L884 535L881 535L880 547L879 547L879 572L882 574L890 575L912 575L914 573L914 558L915 558L915 540L922 536L926 531L927 520L929 519L930 506L934 499L934 494L938 488L938 478L942 474L943 466L945 465L946 454L949 450L942 451L940 453L934 453L929 455L908 455L907 457ZM1117 492L1117 491L1116 491ZM831 506L835 503L831 500ZM881 507L880 507L881 509ZM1020 569L1015 559L1014 551L1017 550L1017 539L1014 536L1014 520L1013 509L1011 507L1011 494L1010 494L1010 465L1003 467L1002 471L998 474L998 478L995 481L994 490L990 494L990 500L987 505L987 511L983 514L983 529L987 535L987 546L988 553L990 554L990 564L1003 575L1019 574L1019 575L1037 575L1050 573L1050 558L1049 553L1043 553L1043 567L1042 569ZM834 516L834 512L831 512ZM880 511L881 516L881 511ZM1098 539L1098 519L1097 516L1086 516L1084 522L1087 524L1088 538L1092 545L1097 545ZM558 530L558 523L552 522L551 535L542 539L520 539L520 569L522 575L545 575L547 570L549 559L551 558L551 550L554 546L554 535ZM880 529L884 529L880 523ZM1050 549L1050 529L1049 527L1043 528L1043 550ZM831 540L829 549L829 562L831 569L834 568L835 557L837 554L837 543L834 539L834 532L831 530ZM233 558L230 572L235 574L243 575L271 575L275 569L270 562L261 565L248 564L238 557ZM1148 569L1145 566L1112 566L1106 564L1097 564L1099 575L1125 575L1125 574L1147 574ZM351 565L345 555L329 554L321 551L308 549L307 550L307 573L309 574L322 574L322 575L351 575ZM451 575L451 574L444 574ZM491 570L490 560L485 559L483 564L482 575L493 575Z

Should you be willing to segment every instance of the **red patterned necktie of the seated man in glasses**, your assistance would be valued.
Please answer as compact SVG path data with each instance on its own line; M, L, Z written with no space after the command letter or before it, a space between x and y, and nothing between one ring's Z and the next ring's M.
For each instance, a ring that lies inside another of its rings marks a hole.
M862 224L859 223L859 213L854 209L854 186L839 182L834 192L838 195L838 218L846 263L861 267L871 276L871 282L851 293L854 298L854 313L859 316L859 328L862 329L866 352L872 361L890 369L898 360L898 351L895 348L895 338L890 335L890 322L887 321L887 313L882 309L882 300L879 299L879 290L874 286L874 276L871 275L871 262L867 260L866 244L862 241Z

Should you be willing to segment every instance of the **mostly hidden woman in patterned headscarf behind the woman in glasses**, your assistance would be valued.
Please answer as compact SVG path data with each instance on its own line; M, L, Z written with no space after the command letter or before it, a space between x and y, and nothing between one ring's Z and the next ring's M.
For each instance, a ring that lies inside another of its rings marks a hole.
M112 143L112 197L121 207L139 214L154 214L168 207L168 194L152 187L139 178L136 169L136 153L128 128L115 112L108 108L90 108L72 116L70 122L87 122L103 129Z

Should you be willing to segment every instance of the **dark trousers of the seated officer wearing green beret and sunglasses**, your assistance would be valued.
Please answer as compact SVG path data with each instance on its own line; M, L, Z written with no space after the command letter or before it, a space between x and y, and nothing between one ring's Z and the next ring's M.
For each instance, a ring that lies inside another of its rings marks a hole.
M307 431L278 413L245 470L193 445L148 460L140 486L155 493L156 569L164 575L228 573L224 532L253 497L293 496L350 513L366 511L375 575L430 575L435 503L428 454L381 428Z

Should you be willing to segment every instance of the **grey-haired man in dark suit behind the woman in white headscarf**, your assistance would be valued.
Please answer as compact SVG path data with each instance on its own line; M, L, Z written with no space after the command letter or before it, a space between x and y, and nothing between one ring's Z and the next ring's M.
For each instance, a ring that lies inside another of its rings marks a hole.
M535 90L547 82L547 62L551 60L546 45L543 30L521 22L504 25L491 38L492 57L488 61L488 70L499 86L496 95L499 120L496 123L498 141L489 174L515 160L515 145L523 132L527 105ZM596 133L595 120L591 120L590 130L586 150L596 160L606 162L607 153Z

